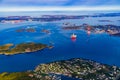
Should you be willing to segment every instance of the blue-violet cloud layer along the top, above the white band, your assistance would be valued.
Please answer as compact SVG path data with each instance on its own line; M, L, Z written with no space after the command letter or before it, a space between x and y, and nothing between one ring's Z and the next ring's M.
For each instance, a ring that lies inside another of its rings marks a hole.
M0 6L111 6L119 4L120 0L0 0Z

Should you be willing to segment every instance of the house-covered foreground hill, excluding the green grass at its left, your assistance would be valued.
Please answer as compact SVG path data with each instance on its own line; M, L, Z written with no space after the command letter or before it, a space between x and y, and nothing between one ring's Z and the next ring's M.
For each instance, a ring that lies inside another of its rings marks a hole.
M38 79L42 78L41 74L56 74L80 80L116 80L119 77L120 68L75 58L38 65L34 72L33 75Z

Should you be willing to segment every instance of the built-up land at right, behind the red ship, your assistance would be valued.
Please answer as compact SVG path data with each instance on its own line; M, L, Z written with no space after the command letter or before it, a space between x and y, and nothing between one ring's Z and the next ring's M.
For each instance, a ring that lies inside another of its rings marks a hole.
M113 36L120 36L120 26L117 25L89 25L83 23L82 25L76 25L71 23L63 23L63 30L85 30L87 34L101 34L108 33Z

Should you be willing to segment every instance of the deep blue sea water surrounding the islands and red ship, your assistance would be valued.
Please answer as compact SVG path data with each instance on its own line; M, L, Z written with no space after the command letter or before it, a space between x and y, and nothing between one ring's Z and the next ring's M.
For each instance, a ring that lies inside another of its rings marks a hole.
M112 22L98 22L109 19ZM25 42L53 44L52 49L17 54L12 56L0 55L0 72L18 72L33 70L42 63L71 58L94 60L103 64L120 66L120 37L107 33L88 35L84 30L63 30L63 23L82 25L118 25L120 17L101 17L71 19L53 22L22 22L17 24L0 23L0 45L7 43L20 44ZM32 27L35 32L16 32L17 29ZM41 32L42 29L50 33ZM77 35L76 41L71 40L71 34Z

